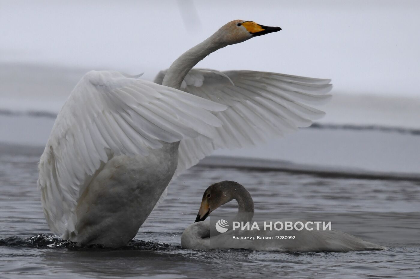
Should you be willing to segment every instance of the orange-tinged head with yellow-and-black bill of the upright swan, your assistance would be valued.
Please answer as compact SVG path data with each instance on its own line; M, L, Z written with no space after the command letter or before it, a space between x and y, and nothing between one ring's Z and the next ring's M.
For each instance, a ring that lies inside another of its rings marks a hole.
M280 31L280 27L265 26L241 19L226 23L214 34L223 44L238 44L252 37Z

